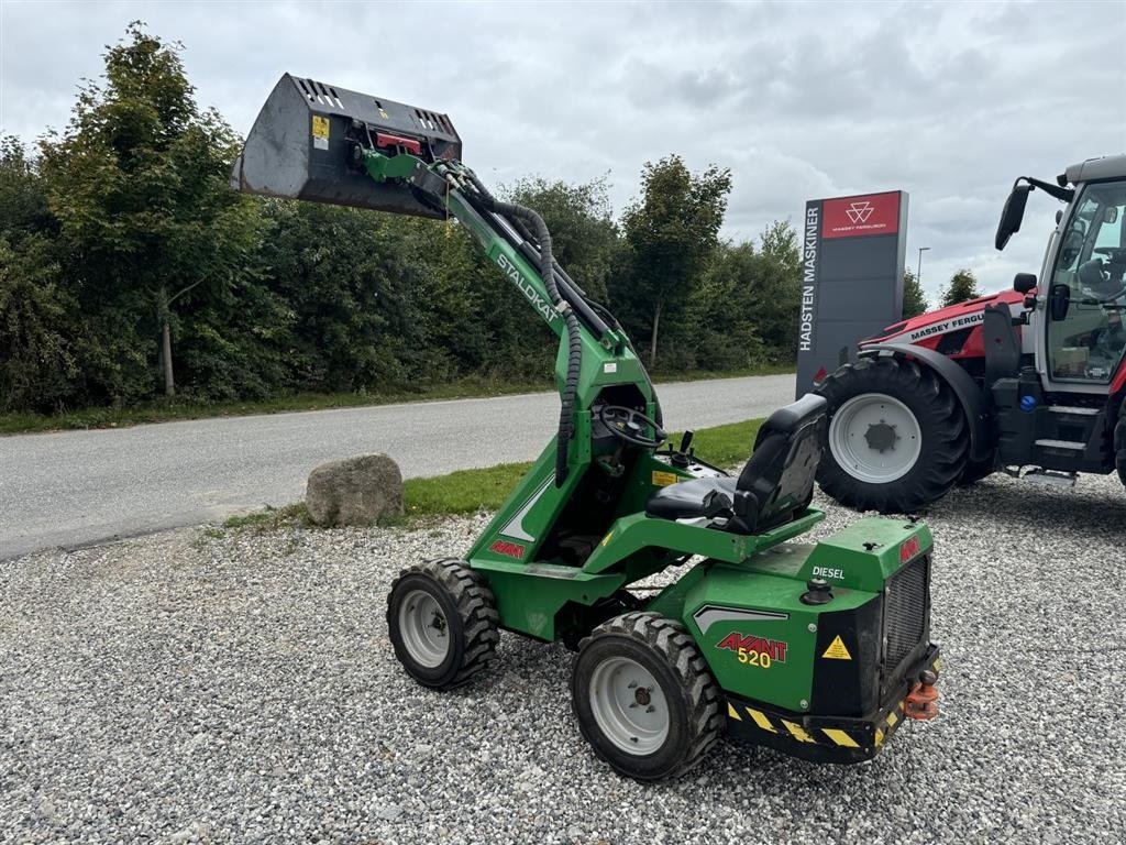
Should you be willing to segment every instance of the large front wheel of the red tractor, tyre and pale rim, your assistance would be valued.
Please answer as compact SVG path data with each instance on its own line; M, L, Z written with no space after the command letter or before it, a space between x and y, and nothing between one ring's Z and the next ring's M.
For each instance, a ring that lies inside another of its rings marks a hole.
M963 478L965 413L949 385L894 357L846 364L817 389L829 402L821 489L842 505L910 514Z

